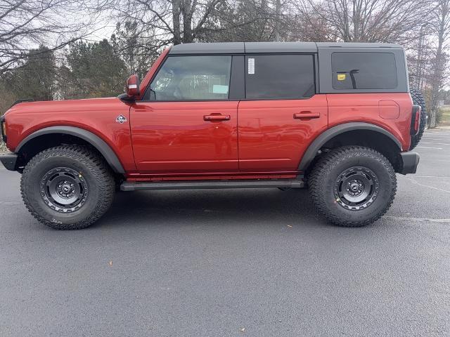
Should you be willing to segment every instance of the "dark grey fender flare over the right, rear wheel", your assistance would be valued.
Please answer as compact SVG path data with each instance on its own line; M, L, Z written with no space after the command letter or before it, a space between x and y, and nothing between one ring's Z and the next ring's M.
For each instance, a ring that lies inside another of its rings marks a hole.
M316 157L317 152L323 147L323 145L328 142L331 138L340 135L341 133L345 133L347 131L355 131L355 130L369 130L369 131L375 131L378 133L383 134L384 136L387 136L392 140L398 147L399 151L401 151L401 143L399 140L392 135L389 131L387 131L385 128L382 128L375 124L370 123L364 123L359 121L354 121L351 123L345 123L345 124L339 124L336 126L333 126L332 128L328 128L326 131L321 133L319 137L317 137L311 145L309 145L308 150L304 152L304 155L302 157L302 160L300 161L300 164L298 166L298 171L305 171L309 164L314 160Z

